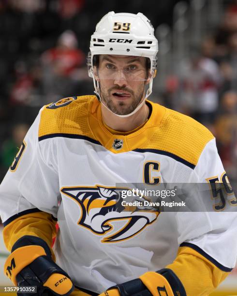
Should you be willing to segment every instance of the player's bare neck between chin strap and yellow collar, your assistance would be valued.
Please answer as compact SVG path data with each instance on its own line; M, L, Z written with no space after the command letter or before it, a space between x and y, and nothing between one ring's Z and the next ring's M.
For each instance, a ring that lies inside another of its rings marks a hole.
M135 114L129 117L118 117L101 104L101 115L104 123L118 132L130 132L147 121L149 107L144 104Z

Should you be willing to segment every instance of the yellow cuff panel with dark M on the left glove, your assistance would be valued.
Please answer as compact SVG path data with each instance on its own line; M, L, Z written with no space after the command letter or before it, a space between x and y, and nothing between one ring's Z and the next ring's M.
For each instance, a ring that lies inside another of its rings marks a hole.
M4 265L4 274L17 286L16 275L39 256L46 255L40 246L25 246L12 252Z

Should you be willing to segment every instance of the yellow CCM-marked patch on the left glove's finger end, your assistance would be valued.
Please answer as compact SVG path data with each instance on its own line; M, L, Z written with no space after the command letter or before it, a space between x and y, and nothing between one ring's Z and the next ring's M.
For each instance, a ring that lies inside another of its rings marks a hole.
M53 273L44 283L44 287L50 288L59 295L67 294L73 287L72 281L60 273Z

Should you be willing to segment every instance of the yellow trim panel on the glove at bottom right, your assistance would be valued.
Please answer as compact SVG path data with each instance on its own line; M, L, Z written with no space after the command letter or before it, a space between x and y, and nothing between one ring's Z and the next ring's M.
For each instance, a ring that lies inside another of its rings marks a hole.
M148 288L148 290L153 296L160 296L160 295L174 296L174 293L171 289L169 282L161 274L157 272L148 271L143 275L141 275L139 279L144 283L144 285ZM165 292L162 292L162 289L159 294L157 290L158 287L164 288L167 294L165 294Z

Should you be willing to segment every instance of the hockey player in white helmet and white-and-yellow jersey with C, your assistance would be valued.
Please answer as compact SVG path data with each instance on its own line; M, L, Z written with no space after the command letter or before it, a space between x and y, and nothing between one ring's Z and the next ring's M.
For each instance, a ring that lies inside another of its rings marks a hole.
M235 266L237 214L225 207L237 200L213 135L147 100L157 51L147 17L108 13L91 36L96 96L48 104L31 126L0 186L11 252L4 272L20 288L36 286L37 295L209 295ZM211 185L219 212L116 207L117 183L191 182Z

